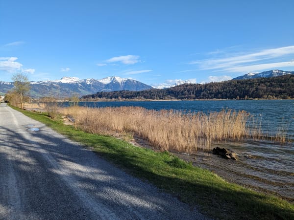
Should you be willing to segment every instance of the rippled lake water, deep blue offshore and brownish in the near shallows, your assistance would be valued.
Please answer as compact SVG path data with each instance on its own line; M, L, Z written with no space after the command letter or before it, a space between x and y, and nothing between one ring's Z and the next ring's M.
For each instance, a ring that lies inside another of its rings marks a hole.
M294 100L79 102L79 105L95 108L139 106L152 110L195 112L245 110L258 119L263 132L271 134L283 128L287 131L287 137L294 140ZM217 146L235 151L239 154L239 160L225 160L201 152L186 159L229 181L263 192L274 192L294 201L294 142L279 145L270 141L242 141L218 143Z

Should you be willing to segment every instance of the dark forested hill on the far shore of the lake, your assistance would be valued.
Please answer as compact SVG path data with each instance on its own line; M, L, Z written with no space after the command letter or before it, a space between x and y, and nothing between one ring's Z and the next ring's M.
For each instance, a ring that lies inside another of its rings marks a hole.
M82 100L293 99L294 74L272 78L183 84L166 89L97 92Z

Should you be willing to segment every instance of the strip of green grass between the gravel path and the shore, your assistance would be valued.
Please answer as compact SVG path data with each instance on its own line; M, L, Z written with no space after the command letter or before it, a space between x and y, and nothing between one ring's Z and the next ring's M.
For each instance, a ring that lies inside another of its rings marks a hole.
M194 167L168 153L135 147L110 136L86 133L51 120L46 114L21 110L56 132L90 146L133 176L147 180L204 214L219 219L294 219L294 204L228 183L212 172Z

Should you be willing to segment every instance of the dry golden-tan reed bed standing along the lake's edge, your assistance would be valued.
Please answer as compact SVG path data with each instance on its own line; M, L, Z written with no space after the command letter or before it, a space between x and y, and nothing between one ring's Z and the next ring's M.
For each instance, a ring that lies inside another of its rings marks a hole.
M193 153L210 150L215 142L252 136L245 111L183 112L141 107L87 108L73 106L59 112L71 115L75 126L91 133L132 133L154 149Z

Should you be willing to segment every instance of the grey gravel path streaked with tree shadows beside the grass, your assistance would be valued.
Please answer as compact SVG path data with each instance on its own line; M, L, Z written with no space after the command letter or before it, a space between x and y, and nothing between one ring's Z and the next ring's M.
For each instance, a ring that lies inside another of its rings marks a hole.
M206 218L1 104L0 219Z

